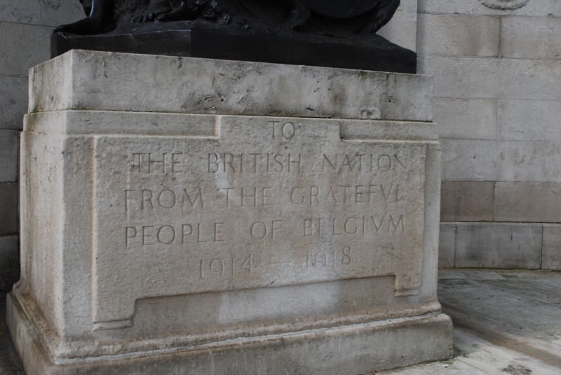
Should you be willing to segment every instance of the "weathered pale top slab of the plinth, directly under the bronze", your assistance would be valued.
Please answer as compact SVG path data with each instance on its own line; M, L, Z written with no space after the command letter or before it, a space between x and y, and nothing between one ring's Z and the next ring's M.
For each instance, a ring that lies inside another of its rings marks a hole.
M31 79L29 112L432 119L432 79L408 74L74 50Z

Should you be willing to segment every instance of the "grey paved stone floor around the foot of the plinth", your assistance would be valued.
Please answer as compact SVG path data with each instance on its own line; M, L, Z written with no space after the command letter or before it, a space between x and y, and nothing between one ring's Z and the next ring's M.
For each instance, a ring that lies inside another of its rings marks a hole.
M442 310L454 320L454 359L378 375L560 375L561 273L442 270ZM0 300L0 375L23 374Z

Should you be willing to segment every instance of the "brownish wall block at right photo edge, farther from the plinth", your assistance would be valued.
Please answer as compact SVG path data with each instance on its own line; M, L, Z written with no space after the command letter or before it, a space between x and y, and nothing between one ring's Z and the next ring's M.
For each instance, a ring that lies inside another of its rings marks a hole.
M561 184L496 182L494 220L561 223Z

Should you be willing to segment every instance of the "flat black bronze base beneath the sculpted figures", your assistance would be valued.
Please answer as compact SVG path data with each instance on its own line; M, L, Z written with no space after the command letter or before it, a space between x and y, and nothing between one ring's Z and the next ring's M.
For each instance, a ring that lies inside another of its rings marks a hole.
M164 31L114 32L79 36L63 32L51 37L51 57L72 49L99 50L221 60L273 62L415 74L417 54L376 34L334 38L292 30L219 32L185 28Z

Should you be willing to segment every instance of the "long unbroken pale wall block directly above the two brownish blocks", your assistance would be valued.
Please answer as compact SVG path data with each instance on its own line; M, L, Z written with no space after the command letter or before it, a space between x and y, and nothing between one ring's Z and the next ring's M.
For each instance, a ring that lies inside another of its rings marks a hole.
M561 182L561 143L442 139L445 181Z

